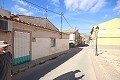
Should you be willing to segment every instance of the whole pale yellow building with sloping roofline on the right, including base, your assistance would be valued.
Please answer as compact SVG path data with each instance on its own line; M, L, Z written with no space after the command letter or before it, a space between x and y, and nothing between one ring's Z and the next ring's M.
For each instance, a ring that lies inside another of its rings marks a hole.
M97 44L99 49L120 49L120 18L93 26L91 31L91 45L96 44L96 27L99 27Z

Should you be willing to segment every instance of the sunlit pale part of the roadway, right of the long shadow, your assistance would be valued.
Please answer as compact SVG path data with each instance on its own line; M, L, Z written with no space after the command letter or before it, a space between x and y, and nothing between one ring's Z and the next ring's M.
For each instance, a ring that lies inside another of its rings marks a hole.
M88 48L84 47L78 54L39 80L97 80L89 53Z

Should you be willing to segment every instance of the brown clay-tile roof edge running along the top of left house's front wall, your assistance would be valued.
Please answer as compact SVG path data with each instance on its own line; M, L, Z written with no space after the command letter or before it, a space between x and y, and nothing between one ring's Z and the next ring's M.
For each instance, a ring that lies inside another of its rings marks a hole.
M13 17L0 15L0 19L10 20L12 22L18 22L18 23L21 23L21 24L30 25L30 26L34 26L34 27L37 27L37 28L42 28L42 29L47 29L47 30L59 32L58 30L53 30L53 29L45 27L45 26L41 26L41 25L36 25L36 24L33 24L33 23L25 22L25 21L22 21L20 19L16 19L16 18L13 18Z

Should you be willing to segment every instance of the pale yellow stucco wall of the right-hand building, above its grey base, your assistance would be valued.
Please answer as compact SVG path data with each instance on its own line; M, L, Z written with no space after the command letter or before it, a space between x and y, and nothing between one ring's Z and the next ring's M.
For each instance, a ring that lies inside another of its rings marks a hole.
M115 18L101 24L96 25L98 30L98 44L99 45L116 45L120 46L120 33L117 32L120 29L120 19ZM92 37L95 38L95 32Z

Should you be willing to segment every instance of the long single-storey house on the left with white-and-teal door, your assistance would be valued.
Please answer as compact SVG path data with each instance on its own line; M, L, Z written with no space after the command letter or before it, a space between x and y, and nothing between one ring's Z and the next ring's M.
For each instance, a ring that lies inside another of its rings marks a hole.
M48 19L10 15L3 9L0 9L0 40L12 45L9 50L14 65L69 49L69 35L62 33L61 38L61 32Z

